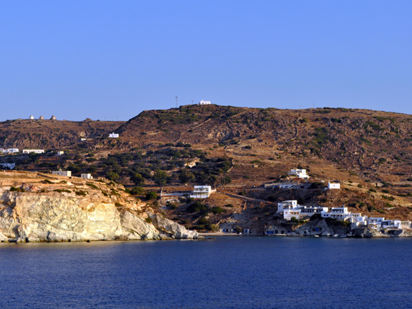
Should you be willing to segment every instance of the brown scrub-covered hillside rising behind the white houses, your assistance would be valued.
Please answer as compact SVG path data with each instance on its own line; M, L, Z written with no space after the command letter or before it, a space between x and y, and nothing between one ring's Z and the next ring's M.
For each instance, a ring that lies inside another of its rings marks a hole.
M291 198L328 207L345 204L368 216L412 219L411 115L190 105L144 111L126 123L73 123L71 130L54 121L55 127L41 131L42 139L16 129L17 122L1 123L8 131L1 130L0 147L43 148L39 143L44 143L67 155L8 155L0 157L2 162L14 160L21 169L43 172L67 168L76 176L91 172L130 190L139 186L158 193L162 187L174 192L186 184L208 183L218 189L205 201L209 209L233 205L220 214L187 214L185 202L165 207L159 201L165 216L187 227L198 225L199 218L206 218L206 225L229 220L262 227L277 220L273 202ZM112 130L119 139L107 138ZM82 135L87 141L79 141ZM319 190L263 190L264 183L286 179L292 168L306 168ZM322 181L339 181L342 189L325 192Z

